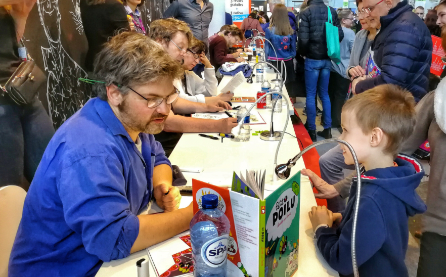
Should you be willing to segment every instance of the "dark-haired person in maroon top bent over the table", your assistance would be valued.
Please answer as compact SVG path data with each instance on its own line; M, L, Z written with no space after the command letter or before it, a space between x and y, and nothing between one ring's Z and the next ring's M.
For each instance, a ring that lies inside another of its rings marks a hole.
M225 30L224 34L220 34L212 39L212 41L209 43L209 56L210 63L215 68L215 72L224 63L241 63L245 61L245 59L241 57L237 59L227 57L228 48L232 47L234 44L237 44L242 37L242 31L239 28L231 27L230 29Z

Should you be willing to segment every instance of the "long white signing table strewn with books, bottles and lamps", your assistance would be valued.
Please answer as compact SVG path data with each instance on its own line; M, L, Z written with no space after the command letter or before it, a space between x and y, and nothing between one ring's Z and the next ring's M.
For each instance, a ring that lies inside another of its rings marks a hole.
M267 73L268 79L273 79L274 74ZM230 77L225 76L219 88L226 85ZM244 83L235 91L236 96L255 97L260 90L260 83ZM283 88L286 93L285 86ZM289 98L284 100L289 102ZM237 106L238 104L236 104ZM250 103L246 104L251 105ZM234 106L234 104L233 104ZM256 108L254 108L256 109ZM290 103L290 111L293 110ZM258 110L266 124L251 125L252 132L257 130L268 130L271 119L271 109ZM294 111L293 111L294 114ZM283 130L285 124L286 108L282 113L274 115L275 130ZM295 135L291 120L288 121L287 132ZM266 169L265 189L274 191L283 180L273 182L273 164L278 142L265 142L259 136L251 136L249 142L234 142L229 138L215 141L209 138L198 136L196 133L185 133L180 142L176 145L169 159L172 164L188 167L202 167L201 173L184 173L188 184L192 184L192 178L212 184L230 185L232 183L233 171L245 169ZM300 151L296 138L285 134L278 155L278 163L285 163ZM305 168L303 159L299 159L292 168L291 174ZM313 229L308 218L308 211L311 206L316 206L316 200L311 189L310 182L306 176L301 177L300 187L300 228L299 228L299 260L298 270L294 276L339 276L323 259L319 250L316 249L313 241ZM182 206L187 206L192 201L192 197L183 197ZM104 263L96 276L137 276L136 262L141 259L148 259L147 251L142 250L133 253L125 259ZM156 276L151 268L151 276ZM253 276L254 277L254 276Z

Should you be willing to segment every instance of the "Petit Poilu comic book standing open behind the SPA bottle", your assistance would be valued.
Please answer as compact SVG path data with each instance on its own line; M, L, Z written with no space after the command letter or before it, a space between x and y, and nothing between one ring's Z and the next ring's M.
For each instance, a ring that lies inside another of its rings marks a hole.
M230 219L229 248L236 251L232 257L228 253L228 276L292 276L299 245L300 171L270 195L263 195L261 172L254 178L233 176L231 191L193 180L194 212L207 192L219 195L219 208L225 207Z

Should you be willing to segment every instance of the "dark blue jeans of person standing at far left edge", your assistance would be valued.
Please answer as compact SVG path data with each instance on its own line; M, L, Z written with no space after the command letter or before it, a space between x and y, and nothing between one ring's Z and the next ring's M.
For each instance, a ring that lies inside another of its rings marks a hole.
M0 187L14 184L28 189L54 132L37 97L19 106L0 95Z

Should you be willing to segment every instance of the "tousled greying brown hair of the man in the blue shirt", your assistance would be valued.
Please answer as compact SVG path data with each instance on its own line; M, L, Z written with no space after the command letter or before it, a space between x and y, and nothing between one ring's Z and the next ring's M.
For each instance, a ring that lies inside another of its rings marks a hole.
M166 78L180 79L184 69L164 49L149 37L136 32L123 32L104 44L95 59L94 75L97 80L93 91L107 100L106 86L119 84L125 95L130 86L145 85Z

